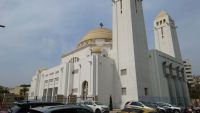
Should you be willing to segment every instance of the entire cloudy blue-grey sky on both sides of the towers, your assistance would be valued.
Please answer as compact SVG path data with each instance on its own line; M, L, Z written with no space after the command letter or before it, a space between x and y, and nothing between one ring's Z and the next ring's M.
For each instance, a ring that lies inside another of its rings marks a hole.
M175 20L183 59L200 75L200 1L143 0L149 49L161 10ZM91 29L112 29L111 0L0 0L0 85L30 84L39 68L59 65Z

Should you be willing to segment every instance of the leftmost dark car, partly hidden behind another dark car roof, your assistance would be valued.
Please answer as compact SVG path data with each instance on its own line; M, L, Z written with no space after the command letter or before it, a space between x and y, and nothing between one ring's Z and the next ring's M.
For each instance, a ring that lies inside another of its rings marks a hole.
M64 104L55 102L38 102L38 101L15 102L14 106L8 110L8 113L28 113L28 110L30 108L55 106L55 105L64 105Z

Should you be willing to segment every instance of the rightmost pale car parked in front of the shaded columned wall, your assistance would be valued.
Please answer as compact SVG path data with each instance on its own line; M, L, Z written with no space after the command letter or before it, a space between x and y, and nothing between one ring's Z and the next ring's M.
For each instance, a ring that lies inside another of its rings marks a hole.
M181 113L181 108L177 107L175 105L169 104L169 103L164 103L164 102L156 102L159 106L166 108L166 109L171 109L173 113Z

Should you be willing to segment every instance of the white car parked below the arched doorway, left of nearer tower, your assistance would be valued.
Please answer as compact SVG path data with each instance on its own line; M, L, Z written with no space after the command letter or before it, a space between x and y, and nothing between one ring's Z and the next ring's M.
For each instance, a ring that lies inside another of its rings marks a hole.
M98 101L84 101L84 105L90 107L95 113L109 113L109 108Z

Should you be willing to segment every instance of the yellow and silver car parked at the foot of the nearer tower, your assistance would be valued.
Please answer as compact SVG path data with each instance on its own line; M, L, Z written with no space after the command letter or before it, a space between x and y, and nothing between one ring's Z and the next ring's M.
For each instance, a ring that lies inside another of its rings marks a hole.
M142 110L143 113L156 113L156 109L154 109L153 107L149 107L147 105L145 105L142 102L138 102L138 101L128 101L126 102L124 109L127 108L132 108L132 109L137 109L137 110Z

